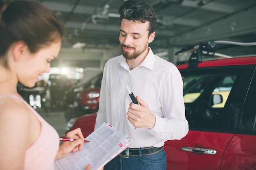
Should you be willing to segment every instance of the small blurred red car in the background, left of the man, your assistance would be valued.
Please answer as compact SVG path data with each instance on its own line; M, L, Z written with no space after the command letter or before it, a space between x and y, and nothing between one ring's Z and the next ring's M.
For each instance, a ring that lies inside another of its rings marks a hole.
M99 93L101 87L86 88L77 94L74 105L81 108L85 113L96 112L99 109Z

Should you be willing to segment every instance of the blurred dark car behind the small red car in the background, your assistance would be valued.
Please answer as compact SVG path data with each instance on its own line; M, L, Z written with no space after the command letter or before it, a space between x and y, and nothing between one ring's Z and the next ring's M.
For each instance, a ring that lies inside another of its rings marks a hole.
M89 81L85 83L79 83L76 86L68 89L64 95L65 106L68 108L76 108L78 105L75 102L76 97L79 93L87 88L96 88L101 86L103 73L99 73L96 76L92 77Z

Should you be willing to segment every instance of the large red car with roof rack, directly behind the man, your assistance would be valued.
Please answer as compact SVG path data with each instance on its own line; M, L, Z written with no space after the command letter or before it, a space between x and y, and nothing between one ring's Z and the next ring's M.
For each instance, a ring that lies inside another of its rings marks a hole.
M189 133L165 142L167 170L256 170L256 56L229 58L207 45L177 66ZM202 61L207 55L227 58ZM71 129L87 136L96 116L79 117Z

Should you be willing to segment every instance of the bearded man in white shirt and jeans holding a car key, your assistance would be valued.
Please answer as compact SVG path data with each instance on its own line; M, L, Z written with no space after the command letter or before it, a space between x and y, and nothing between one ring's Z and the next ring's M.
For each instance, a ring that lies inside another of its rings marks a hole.
M132 143L104 170L165 170L164 142L182 139L188 132L182 77L174 64L148 47L155 38L154 9L146 2L128 0L119 13L123 55L104 67L95 129L110 123ZM131 103L126 85L139 104Z

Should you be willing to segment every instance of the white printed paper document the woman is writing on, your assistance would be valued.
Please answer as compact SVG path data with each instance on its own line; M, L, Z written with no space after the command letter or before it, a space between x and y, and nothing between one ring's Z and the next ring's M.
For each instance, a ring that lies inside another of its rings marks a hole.
M92 165L92 170L98 170L132 142L126 134L106 123L103 123L85 140L90 142L84 143L82 150L56 160L55 170L84 170L88 164Z

